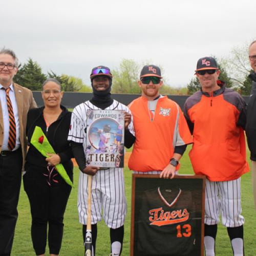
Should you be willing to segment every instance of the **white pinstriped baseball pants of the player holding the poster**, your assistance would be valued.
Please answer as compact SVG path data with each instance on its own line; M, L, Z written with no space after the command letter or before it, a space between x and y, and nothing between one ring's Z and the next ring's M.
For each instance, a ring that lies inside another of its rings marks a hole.
M78 212L81 224L87 224L87 175L80 172L78 187ZM122 168L98 170L92 179L92 224L101 221L113 229L124 224L127 212Z

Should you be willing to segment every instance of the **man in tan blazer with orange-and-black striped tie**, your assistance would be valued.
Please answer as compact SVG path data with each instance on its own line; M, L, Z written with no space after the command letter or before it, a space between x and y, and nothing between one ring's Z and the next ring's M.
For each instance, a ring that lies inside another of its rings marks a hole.
M0 255L10 255L18 217L17 204L27 151L26 123L36 108L32 92L13 82L18 59L0 50Z

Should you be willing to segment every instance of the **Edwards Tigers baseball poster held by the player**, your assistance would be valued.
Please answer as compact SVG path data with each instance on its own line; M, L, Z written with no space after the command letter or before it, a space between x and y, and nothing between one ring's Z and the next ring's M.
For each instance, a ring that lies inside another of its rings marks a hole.
M123 167L124 114L119 110L87 111L87 163Z

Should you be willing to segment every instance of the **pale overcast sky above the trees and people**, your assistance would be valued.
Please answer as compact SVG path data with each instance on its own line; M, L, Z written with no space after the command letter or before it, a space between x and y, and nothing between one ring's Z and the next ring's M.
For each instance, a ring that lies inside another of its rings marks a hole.
M170 86L186 86L200 57L256 39L255 10L254 0L8 0L0 47L87 84L93 67L128 58L161 65Z

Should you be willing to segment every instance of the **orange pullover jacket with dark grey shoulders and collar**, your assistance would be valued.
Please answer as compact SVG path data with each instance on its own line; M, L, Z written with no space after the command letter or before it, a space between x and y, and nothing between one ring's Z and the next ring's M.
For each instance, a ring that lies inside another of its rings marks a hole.
M197 175L210 181L235 180L249 171L246 162L243 98L233 90L221 88L209 95L198 91L184 105L184 115L193 134L189 157Z

